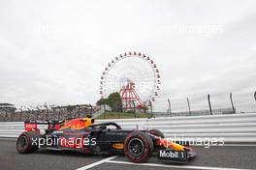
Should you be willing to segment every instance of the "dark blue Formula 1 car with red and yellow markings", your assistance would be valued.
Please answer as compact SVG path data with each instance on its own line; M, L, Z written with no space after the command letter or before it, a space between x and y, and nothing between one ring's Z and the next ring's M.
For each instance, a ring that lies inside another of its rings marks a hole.
M38 125L48 125L44 134ZM66 121L26 121L25 131L16 141L20 154L38 149L74 150L85 154L125 155L132 162L144 162L153 153L160 160L188 162L196 154L188 144L180 145L164 138L157 129L125 130L116 123L94 124L94 119L77 118Z

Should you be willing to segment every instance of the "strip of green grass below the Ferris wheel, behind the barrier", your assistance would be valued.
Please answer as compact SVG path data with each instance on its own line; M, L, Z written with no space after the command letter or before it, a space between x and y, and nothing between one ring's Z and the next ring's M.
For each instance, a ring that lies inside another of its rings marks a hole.
M96 119L132 119L132 118L148 118L148 113L127 113L127 112L106 112Z

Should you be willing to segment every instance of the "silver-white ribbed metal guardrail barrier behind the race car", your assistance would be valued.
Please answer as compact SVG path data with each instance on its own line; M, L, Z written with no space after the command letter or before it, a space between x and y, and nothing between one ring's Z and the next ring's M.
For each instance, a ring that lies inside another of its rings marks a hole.
M225 142L256 144L256 113L160 117L151 119L96 120L96 123L115 122L125 129L160 129L166 138L223 138ZM46 126L39 126L47 128ZM22 122L0 123L0 137L17 137L23 131Z

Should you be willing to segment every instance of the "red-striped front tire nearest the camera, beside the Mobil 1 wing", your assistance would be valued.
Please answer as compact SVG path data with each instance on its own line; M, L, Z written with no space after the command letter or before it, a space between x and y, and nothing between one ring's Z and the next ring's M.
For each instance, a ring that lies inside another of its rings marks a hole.
M132 162L143 163L153 153L154 144L151 137L143 131L129 133L124 141L124 155Z

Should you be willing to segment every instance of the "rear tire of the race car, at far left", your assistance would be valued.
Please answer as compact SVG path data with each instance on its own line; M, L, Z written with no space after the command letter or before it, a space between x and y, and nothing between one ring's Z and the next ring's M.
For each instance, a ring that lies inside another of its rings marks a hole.
M37 131L22 132L16 140L16 151L19 154L34 153L39 149L40 133Z

